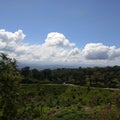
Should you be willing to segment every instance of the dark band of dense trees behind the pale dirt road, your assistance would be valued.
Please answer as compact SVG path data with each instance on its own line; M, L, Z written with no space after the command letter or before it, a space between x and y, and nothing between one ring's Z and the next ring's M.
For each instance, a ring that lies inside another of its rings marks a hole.
M120 66L37 70L24 67L23 83L72 83L81 86L120 88Z

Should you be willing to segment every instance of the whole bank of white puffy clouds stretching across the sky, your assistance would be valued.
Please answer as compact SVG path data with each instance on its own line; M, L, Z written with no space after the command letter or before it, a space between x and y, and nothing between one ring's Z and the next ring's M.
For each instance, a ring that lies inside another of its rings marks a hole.
M62 33L51 32L44 43L24 43L22 30L0 30L0 52L9 54L17 61L30 64L108 64L120 65L120 48L103 43L88 43L83 49L68 40Z

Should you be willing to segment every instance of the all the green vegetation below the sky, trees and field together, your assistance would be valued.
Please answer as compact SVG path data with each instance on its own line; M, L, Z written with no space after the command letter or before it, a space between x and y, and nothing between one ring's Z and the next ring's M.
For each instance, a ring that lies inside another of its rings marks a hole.
M18 70L0 54L0 120L119 120L119 73L119 66Z

